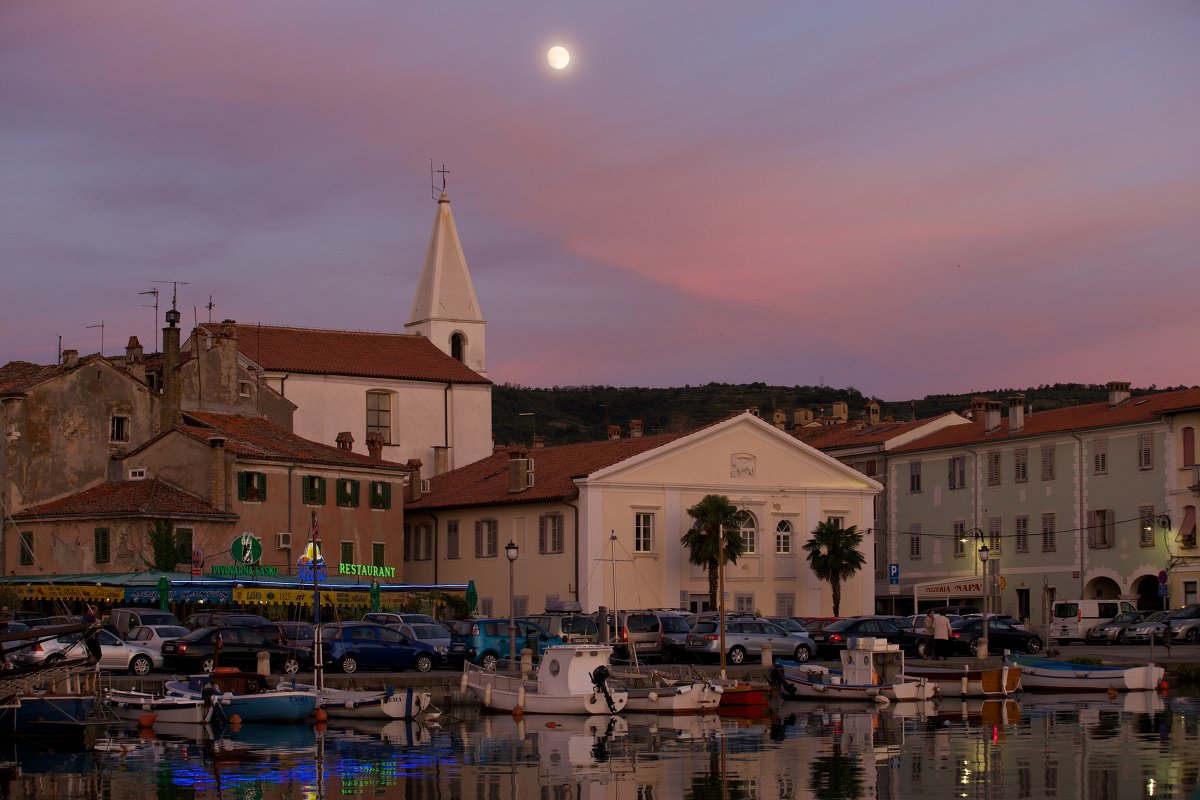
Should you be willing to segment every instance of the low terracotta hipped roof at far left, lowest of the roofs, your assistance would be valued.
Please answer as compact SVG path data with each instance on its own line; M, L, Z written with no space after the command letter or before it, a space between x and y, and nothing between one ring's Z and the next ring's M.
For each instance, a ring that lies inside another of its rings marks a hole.
M238 518L238 515L217 511L206 500L156 477L151 477L144 481L101 483L77 494L25 509L13 515L13 519L114 516L210 516L215 519Z

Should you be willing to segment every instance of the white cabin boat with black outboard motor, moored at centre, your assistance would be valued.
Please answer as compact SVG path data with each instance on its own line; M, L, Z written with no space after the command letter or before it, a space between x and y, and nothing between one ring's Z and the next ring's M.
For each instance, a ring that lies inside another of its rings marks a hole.
M629 692L608 685L612 645L556 644L546 648L532 678L505 675L469 661L462 691L470 691L485 711L523 714L620 714Z

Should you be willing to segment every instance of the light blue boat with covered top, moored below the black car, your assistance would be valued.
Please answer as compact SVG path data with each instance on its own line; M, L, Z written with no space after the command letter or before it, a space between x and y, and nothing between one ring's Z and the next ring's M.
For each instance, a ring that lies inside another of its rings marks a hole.
M311 688L271 688L265 675L239 669L218 669L206 675L188 675L186 680L168 680L168 694L210 700L212 718L229 722L300 722L317 708L317 693Z

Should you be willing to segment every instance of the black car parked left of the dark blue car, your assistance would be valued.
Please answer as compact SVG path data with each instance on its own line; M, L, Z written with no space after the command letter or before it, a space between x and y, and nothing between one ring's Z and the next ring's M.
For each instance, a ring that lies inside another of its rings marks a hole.
M311 651L282 645L250 627L200 627L162 643L164 666L176 673L212 672L215 667L257 672L258 654L264 651L270 654L271 672L294 675L312 667Z

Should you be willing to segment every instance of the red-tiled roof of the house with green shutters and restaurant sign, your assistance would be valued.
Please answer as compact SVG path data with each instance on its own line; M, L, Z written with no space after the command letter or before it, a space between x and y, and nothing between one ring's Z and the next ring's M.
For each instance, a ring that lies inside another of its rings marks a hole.
M184 422L175 429L204 443L220 434L224 437L226 450L244 458L408 471L407 464L371 458L366 453L312 441L260 416L184 411Z

